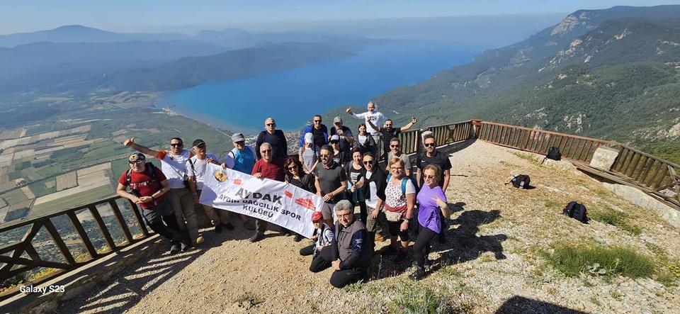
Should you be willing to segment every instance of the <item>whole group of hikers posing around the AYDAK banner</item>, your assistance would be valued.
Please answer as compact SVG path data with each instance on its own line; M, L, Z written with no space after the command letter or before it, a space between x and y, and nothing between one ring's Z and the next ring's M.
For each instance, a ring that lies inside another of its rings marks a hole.
M421 279L426 276L431 241L437 238L440 243L446 242L443 218L449 216L445 191L451 164L448 155L436 150L433 135L426 134L424 152L416 157L413 175L412 163L402 152L397 135L411 128L416 118L395 128L392 120L376 110L375 103L369 102L367 108L358 114L351 108L346 110L349 116L365 120L356 136L340 117L333 119L328 130L322 116L314 116L312 125L303 131L295 157L288 156L288 142L273 118L265 120L265 130L259 133L254 147L246 145L242 133L232 135L234 149L223 162L208 152L200 139L193 141L190 150L184 148L181 138L171 138L169 150L152 150L130 138L123 144L137 152L128 157L130 169L120 176L117 194L142 208L149 228L171 241L170 252L174 254L204 241L198 232L194 204L198 204L205 176L211 175L205 172L207 164L219 164L259 179L285 181L324 201L322 208L312 213L312 245L300 249L300 254L312 255L310 271L334 269L330 282L335 287L366 281L375 242L385 240L378 231L386 230L390 239L380 254L394 255L394 261L402 263L411 242L409 228L417 228L412 246L416 271L410 277ZM145 155L158 159L161 166L146 162ZM379 164L381 160L386 167ZM234 213L203 208L215 232L234 230L230 222ZM239 218L244 228L254 230L250 242L265 238L265 220L246 215ZM295 235L295 242L304 238L285 228L280 232Z

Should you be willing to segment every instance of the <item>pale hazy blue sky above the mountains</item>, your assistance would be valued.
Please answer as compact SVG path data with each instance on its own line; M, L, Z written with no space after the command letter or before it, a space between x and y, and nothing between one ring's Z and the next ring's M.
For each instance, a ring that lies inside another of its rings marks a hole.
M611 6L655 6L657 0L0 0L0 33L81 24L118 31L181 26L237 26L277 21L570 13Z

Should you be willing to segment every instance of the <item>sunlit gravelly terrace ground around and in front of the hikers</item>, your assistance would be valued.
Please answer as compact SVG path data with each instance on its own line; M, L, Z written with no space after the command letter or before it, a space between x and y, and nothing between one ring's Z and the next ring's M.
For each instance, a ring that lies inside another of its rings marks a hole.
M468 143L469 144L469 143ZM435 244L431 274L408 279L409 259L374 257L373 280L344 289L328 283L331 270L307 271L310 258L293 242L269 231L258 243L237 223L234 232L205 230L206 242L176 255L158 252L129 267L106 285L64 303L62 313L375 313L399 312L426 296L441 298L453 310L470 313L672 313L680 308L678 288L653 279L567 277L549 267L541 252L560 242L625 245L638 252L680 257L680 230L604 189L568 162L474 142L451 155L455 203L446 244ZM530 174L535 189L504 183L511 173ZM572 200L590 209L628 214L639 235L613 225L588 225L560 215ZM379 243L378 246L386 245ZM428 295L421 295L429 291Z

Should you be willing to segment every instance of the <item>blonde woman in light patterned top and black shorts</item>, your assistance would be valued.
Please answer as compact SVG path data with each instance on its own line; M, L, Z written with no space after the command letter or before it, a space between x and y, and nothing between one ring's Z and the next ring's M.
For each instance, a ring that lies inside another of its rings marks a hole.
M416 200L416 187L405 175L404 160L399 157L390 159L387 169L387 187L385 187L385 216L390 226L390 247L385 252L398 252L395 262L406 259L409 247L409 220L413 217L413 206ZM397 244L397 236L401 245Z

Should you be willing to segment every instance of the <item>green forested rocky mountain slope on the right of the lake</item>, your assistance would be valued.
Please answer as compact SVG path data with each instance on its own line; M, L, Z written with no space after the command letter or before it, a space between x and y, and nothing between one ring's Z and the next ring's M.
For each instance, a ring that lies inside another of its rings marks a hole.
M680 160L680 6L576 11L375 101L402 113L399 123L412 115L429 125L483 118L674 147L668 156Z

